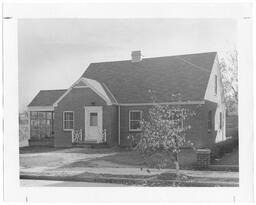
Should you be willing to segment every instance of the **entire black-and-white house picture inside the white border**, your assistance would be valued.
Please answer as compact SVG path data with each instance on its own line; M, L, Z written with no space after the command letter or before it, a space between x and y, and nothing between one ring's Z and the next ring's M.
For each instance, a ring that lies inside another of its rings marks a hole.
M235 19L18 19L20 186L238 187Z

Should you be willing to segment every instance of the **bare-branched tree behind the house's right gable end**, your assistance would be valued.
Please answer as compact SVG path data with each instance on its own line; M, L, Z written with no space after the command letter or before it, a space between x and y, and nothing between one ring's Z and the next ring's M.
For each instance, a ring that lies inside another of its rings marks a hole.
M237 51L230 51L220 59L221 79L224 87L224 100L228 112L237 112L238 105L238 59Z

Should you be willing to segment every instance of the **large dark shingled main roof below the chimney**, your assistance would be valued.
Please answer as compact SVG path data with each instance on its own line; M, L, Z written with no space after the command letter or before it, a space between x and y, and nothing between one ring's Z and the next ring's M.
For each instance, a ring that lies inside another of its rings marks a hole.
M170 94L177 92L182 100L203 100L216 54L92 63L82 77L104 84L118 103L152 102L149 90L160 102L169 102Z

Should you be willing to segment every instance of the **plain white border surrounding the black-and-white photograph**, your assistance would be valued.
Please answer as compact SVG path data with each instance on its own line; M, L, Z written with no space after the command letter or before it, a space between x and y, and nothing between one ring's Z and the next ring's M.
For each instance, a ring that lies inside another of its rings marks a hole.
M253 200L252 5L249 3L3 4L4 198L12 202L234 202ZM237 188L20 187L18 48L20 18L232 18L238 22L239 183ZM243 69L241 69L243 68ZM184 197L185 196L185 197Z

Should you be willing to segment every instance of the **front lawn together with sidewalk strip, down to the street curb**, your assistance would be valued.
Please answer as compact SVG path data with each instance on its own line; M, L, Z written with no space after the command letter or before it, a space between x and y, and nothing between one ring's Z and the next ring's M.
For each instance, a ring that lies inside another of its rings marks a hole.
M28 147L20 149L20 177L136 186L238 186L238 172L193 170L196 154L192 149L182 150L179 159L181 178L177 179L173 163L165 169L152 168L135 151ZM154 160L161 156L155 155Z

